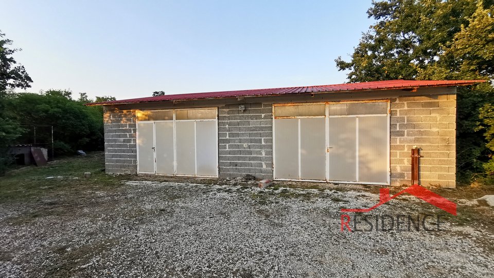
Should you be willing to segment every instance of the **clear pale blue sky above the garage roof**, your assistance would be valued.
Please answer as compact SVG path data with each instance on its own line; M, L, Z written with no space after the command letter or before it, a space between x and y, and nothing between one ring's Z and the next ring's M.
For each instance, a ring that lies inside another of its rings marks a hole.
M0 30L33 79L117 99L346 82L372 20L355 1L8 1Z

